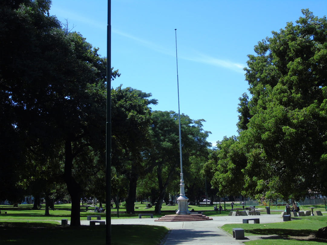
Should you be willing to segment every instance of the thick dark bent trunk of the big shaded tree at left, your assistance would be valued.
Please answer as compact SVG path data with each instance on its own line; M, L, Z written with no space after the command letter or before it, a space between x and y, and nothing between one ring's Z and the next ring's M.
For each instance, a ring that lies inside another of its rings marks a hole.
M71 141L65 142L65 172L64 179L67 184L67 189L72 201L72 210L70 216L70 225L71 226L80 226L80 185L72 176L73 168L73 153L72 153L72 143Z

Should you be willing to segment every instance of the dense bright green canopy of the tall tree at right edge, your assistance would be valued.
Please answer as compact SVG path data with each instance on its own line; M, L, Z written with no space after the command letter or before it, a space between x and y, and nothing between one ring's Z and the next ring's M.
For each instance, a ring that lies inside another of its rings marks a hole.
M326 194L327 21L309 10L254 47L241 98L239 141L246 147L247 193L270 198Z

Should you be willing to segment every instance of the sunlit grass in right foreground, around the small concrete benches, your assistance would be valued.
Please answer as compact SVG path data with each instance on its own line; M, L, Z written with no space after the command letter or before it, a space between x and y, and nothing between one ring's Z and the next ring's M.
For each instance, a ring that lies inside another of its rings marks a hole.
M262 239L246 242L252 244L275 244L275 245L297 245L297 244L326 244L326 240L320 239L305 240L304 237L315 234L319 228L327 225L327 216L304 216L302 219L295 219L287 222L269 224L226 224L222 229L232 234L232 228L244 229L244 235L278 235L281 239Z

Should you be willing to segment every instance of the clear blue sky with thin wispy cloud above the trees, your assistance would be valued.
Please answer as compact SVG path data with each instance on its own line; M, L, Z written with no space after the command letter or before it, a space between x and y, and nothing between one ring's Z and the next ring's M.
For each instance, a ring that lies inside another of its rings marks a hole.
M112 0L112 82L158 100L153 110L178 112L175 28L181 113L204 119L215 146L237 135L238 98L248 92L245 72L253 47L302 16L326 15L327 1ZM51 15L80 32L107 56L107 1L53 0Z

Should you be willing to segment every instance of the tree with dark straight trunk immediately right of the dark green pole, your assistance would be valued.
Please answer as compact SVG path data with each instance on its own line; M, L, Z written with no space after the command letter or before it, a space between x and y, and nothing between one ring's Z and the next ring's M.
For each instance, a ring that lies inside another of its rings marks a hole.
M157 104L157 100L149 97L150 93L130 87L122 89L119 86L112 90L112 165L129 181L126 198L128 213L134 213L137 180L145 174L142 152L150 143L149 105Z

